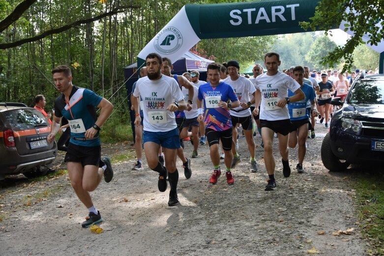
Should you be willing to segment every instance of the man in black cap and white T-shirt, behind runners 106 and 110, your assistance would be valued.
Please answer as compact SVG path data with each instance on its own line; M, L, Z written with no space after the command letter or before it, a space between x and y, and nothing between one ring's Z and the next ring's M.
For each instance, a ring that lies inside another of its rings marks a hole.
M240 106L237 108L231 108L231 123L236 129L236 124L241 124L243 128L245 140L248 144L248 150L251 155L251 171L257 172L257 163L255 160L255 142L253 141L253 123L252 123L252 113L249 107L255 102L255 86L252 84L249 79L244 76L240 76L238 71L240 67L237 61L229 61L227 65L227 70L229 77L224 79L224 83L231 85L236 93L236 96L240 102ZM252 100L250 99L252 95ZM237 135L237 133L236 133ZM232 134L235 136L235 134ZM232 160L231 168L234 168L237 163L240 162L240 157L236 152L235 142L232 144L232 153L234 158Z

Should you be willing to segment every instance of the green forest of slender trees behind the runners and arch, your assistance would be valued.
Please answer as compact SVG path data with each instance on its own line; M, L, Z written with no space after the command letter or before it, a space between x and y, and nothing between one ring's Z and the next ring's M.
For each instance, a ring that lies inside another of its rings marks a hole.
M24 102L33 106L34 96L43 94L47 99L46 109L51 109L58 96L51 70L66 64L72 67L75 85L89 88L115 105L106 124L112 128L111 136L119 133L116 129L120 125L130 122L123 68L136 62L138 53L183 5L228 2L29 1L33 3L21 17L0 32L0 102ZM21 2L24 1L0 0L0 21ZM51 33L55 29L58 31ZM40 39L33 39L39 35L42 35ZM329 68L320 64L321 59L336 46L324 32L306 32L205 39L191 50L218 63L238 60L240 72L255 63L263 64L263 56L268 51L281 55L281 69L300 64L321 70ZM342 69L343 64L341 61L330 68ZM374 70L378 65L378 53L365 45L354 50L354 68Z

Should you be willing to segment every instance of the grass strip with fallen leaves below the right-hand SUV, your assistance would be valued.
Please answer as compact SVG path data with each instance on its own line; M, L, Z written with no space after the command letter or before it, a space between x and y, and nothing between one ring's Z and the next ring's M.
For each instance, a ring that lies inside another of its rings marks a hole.
M384 255L384 180L381 173L360 174L355 184L358 215L370 255Z

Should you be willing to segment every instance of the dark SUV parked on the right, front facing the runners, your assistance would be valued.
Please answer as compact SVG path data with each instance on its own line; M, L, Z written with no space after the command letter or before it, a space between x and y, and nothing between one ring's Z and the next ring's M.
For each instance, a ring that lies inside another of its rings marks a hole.
M325 135L321 157L325 168L345 170L351 163L384 162L384 75L362 72L354 80L344 102L333 115Z

